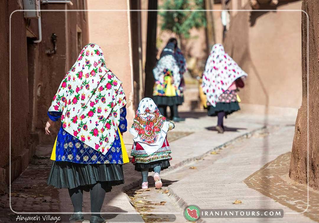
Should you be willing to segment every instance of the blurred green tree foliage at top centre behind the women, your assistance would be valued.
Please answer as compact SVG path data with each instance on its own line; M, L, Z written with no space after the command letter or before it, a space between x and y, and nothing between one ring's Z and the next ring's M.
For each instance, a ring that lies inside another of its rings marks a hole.
M179 11L179 10L204 10L204 0L165 0L160 7L163 10L159 15L162 17L161 30L169 30L176 33L181 40L189 39L189 31L192 28L206 27L205 11ZM181 46L182 47L182 46Z

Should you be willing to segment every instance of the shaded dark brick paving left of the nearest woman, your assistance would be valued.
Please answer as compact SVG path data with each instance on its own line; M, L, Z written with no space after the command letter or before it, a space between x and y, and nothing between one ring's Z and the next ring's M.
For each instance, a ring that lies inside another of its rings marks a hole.
M52 161L34 156L29 167L12 183L11 208L15 212L59 212L59 191L47 185ZM0 219L15 222L17 214L10 210L9 190L0 196ZM68 205L68 204L64 204Z

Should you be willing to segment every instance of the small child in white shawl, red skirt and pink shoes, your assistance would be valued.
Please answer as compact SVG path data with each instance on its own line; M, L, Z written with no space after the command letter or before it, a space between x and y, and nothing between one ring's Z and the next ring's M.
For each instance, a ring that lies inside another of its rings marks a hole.
M162 187L159 173L167 169L172 159L167 132L174 128L166 121L151 98L143 98L136 111L130 133L134 136L131 156L135 170L142 172L142 189L148 188L148 172L154 171L155 187Z

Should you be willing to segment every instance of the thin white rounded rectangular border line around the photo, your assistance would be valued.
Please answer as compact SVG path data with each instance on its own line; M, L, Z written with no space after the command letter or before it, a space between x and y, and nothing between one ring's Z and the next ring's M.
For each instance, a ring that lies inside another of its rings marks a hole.
M11 16L14 12L17 11L39 11L39 10L15 10L11 12L9 18L9 203L10 209L12 212L16 214L73 214L74 212L16 212L11 207ZM303 212L285 212L284 214L303 214L309 208L309 15L304 10L41 10L40 11L126 11L129 19L129 11L295 11L295 12L303 12L307 16L307 208ZM129 45L131 42L131 34L130 34L130 19L128 20L128 28L129 28ZM130 47L130 46L129 46ZM130 48L131 52L131 48ZM130 65L132 65L132 55L130 55ZM132 69L132 66L131 66ZM131 74L132 75L132 74ZM132 88L133 90L133 88ZM95 212L83 212L83 214L91 214ZM99 214L181 214L180 212L98 212Z

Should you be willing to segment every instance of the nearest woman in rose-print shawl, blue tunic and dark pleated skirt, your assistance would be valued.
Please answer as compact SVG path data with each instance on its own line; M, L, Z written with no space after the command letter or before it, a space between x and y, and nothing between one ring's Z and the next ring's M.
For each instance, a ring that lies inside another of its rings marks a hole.
M62 122L48 184L68 188L74 207L70 222L84 220L83 191L90 191L90 222L105 222L100 215L105 193L124 183L122 164L129 162L122 143L125 94L121 81L104 65L102 49L86 45L48 110L46 134L54 121Z

